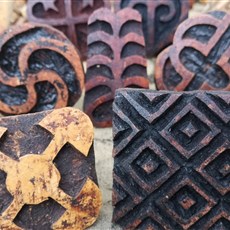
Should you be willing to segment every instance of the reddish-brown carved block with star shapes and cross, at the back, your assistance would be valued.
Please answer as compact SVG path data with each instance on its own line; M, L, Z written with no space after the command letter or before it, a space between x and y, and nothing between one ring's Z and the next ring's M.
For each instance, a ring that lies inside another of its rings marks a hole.
M32 22L44 23L61 30L87 57L87 21L92 12L109 0L28 0L28 18Z

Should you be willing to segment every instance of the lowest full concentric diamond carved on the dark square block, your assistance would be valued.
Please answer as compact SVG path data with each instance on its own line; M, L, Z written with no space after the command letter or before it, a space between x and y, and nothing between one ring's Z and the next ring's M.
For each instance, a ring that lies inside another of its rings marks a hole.
M171 186L157 203L184 229L194 224L215 205L215 201L189 178Z

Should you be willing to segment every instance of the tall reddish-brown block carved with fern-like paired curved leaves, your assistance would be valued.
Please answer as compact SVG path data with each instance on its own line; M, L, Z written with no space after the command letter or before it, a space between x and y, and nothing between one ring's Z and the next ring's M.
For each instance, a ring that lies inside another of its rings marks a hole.
M115 90L148 88L141 17L132 9L104 8L89 18L84 111L95 126L111 126Z

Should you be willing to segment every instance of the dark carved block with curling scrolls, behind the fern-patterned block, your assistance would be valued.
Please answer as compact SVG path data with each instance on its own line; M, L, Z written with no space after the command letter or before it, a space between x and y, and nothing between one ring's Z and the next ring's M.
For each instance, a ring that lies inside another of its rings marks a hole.
M155 57L170 45L177 26L188 17L184 0L115 0L115 9L132 7L142 15L147 57Z

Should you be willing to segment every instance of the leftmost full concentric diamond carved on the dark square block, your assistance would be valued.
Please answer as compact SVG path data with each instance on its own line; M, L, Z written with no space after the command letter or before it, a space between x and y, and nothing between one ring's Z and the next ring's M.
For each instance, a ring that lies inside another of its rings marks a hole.
M137 149L122 165L140 187L148 192L157 189L178 169L178 165L166 157L153 140Z

